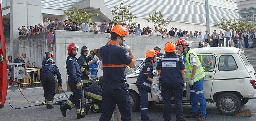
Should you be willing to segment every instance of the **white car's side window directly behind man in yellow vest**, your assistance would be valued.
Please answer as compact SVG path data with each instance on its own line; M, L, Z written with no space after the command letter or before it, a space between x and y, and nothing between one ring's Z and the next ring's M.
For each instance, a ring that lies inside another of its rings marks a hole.
M199 55L198 56L204 72L212 72L215 68L216 58L212 55Z

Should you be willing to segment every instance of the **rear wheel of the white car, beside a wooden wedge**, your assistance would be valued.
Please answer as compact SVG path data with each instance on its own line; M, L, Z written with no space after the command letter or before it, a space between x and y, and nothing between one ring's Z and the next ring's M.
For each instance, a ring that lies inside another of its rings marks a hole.
M222 93L217 98L216 106L223 115L235 115L241 109L241 100L236 94Z

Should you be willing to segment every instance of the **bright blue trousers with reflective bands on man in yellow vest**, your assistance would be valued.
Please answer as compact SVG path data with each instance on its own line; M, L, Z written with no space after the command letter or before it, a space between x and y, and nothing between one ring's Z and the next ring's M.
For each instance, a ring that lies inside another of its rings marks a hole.
M190 89L190 100L192 104L191 114L198 113L198 102L200 103L200 111L201 115L207 117L206 113L206 100L203 93L203 81L204 78L201 80L193 83L192 86L189 86Z

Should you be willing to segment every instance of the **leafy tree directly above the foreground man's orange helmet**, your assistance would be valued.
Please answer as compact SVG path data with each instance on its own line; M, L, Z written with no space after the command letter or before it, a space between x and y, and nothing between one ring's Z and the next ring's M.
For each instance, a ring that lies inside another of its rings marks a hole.
M128 23L128 22L132 22L132 19L137 18L137 16L132 15L132 13L128 10L128 8L130 8L131 6L123 6L124 1L120 3L120 6L115 6L114 8L116 10L112 10L112 15L114 15L112 17L114 23L116 22L117 24L121 24L122 23ZM136 23L131 23L130 25L135 25Z

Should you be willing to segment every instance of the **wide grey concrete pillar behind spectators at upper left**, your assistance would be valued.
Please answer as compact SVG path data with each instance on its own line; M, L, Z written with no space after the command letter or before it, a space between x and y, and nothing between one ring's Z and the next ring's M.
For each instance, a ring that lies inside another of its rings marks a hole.
M10 0L10 55L19 52L19 31L22 26L35 26L42 21L41 0ZM26 52L25 52L26 53ZM30 57L31 55L28 55Z

